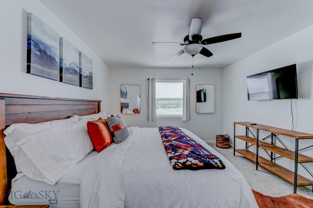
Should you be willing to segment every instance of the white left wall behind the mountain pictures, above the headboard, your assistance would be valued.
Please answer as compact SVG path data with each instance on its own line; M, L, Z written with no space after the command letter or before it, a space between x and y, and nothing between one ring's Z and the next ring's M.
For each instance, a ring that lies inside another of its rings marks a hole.
M93 90L26 74L27 12L33 13L92 59ZM108 109L110 69L39 0L1 0L0 92L102 100Z

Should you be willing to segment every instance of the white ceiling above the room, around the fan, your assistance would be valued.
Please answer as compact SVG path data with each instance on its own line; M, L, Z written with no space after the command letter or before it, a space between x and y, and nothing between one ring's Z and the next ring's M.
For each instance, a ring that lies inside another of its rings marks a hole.
M151 42L183 42L194 17L203 39L242 32L205 45L214 55L196 55L195 68L227 66L313 24L313 0L41 1L111 67L190 68L187 54L170 60L183 46Z

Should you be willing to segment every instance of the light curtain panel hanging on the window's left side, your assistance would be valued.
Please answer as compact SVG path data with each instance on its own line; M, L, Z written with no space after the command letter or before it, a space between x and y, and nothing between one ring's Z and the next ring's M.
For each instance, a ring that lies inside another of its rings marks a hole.
M148 122L156 122L156 78L148 79Z

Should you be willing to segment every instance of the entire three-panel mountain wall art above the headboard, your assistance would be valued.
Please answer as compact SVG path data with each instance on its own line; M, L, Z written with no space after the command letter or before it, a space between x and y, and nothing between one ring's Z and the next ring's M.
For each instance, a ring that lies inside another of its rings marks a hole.
M92 89L92 60L32 13L27 14L26 73Z

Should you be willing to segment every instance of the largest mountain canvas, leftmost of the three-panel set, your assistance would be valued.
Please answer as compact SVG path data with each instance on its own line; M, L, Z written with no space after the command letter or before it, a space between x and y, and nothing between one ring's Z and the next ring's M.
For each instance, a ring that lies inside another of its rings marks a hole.
M27 13L26 73L59 81L60 37L32 13Z

